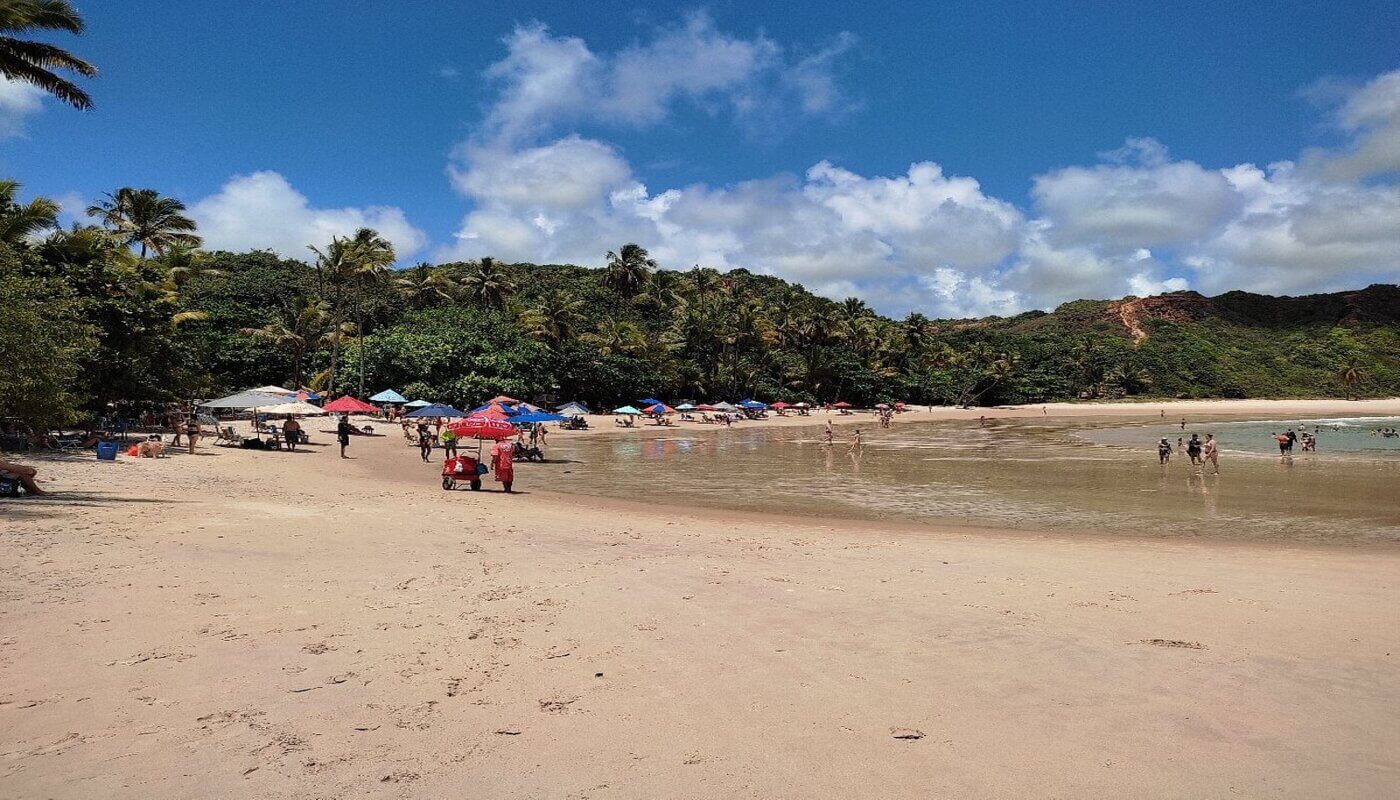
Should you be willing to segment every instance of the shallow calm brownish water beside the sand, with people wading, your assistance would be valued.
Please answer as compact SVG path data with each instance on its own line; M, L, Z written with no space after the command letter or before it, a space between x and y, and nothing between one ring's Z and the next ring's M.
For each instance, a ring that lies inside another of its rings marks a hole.
M1270 432L1322 425L1319 453L1280 458ZM1337 430L1331 430L1336 427ZM1400 439L1389 420L997 420L742 429L568 440L521 475L584 495L818 517L1149 537L1400 542ZM1155 443L1214 433L1221 475Z

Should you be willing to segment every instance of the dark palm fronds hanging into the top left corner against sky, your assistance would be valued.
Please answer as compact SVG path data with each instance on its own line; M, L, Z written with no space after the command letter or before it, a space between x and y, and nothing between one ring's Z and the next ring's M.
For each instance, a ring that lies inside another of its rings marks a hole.
M36 85L73 108L92 108L85 91L52 70L94 77L97 67L62 48L13 36L35 31L81 34L83 18L67 0L0 0L0 77Z

